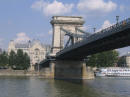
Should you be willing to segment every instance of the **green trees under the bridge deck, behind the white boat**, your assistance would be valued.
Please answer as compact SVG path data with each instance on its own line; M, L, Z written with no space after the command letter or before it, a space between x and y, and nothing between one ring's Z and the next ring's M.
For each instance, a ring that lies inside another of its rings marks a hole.
M110 67L114 66L118 61L118 52L116 50L110 50L102 53L90 55L86 64L92 67Z

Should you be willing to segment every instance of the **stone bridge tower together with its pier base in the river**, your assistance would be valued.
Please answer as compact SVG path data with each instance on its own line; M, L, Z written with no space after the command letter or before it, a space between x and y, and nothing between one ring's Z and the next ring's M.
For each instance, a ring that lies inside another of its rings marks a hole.
M52 49L49 54L50 59L48 61L47 74L50 78L56 79L92 79L94 78L93 72L86 67L86 64L82 60L58 60L56 59L56 53L64 49L64 42L66 33L61 30L65 30L77 34L83 35L78 29L83 30L84 20L79 16L53 16L50 22L53 28ZM73 37L73 42L81 41L82 38ZM43 65L45 65L43 63Z

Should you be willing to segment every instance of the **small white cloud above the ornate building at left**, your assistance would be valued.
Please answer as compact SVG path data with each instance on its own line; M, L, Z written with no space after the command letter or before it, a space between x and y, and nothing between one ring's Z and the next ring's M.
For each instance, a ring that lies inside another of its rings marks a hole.
M20 32L17 34L17 38L14 40L16 43L21 43L21 42L27 42L29 41L30 38L26 35L25 32Z

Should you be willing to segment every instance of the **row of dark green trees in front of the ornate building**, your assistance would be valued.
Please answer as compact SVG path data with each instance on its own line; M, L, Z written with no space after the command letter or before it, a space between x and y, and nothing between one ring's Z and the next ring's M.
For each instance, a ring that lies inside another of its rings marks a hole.
M21 49L17 52L2 52L0 54L0 69L28 70L30 67L30 57Z

